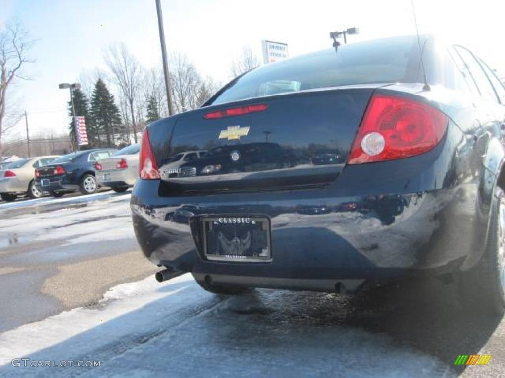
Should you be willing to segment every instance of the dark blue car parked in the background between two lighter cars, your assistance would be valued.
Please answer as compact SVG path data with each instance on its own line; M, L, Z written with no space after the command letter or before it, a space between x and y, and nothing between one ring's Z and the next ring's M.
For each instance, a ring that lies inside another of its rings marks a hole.
M64 155L52 164L35 169L35 185L38 190L53 197L80 191L83 195L94 193L96 184L94 164L111 156L117 150L92 149Z

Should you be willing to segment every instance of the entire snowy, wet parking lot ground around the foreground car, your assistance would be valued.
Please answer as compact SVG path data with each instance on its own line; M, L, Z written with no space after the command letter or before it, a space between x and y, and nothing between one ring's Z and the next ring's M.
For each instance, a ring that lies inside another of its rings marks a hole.
M162 284L139 251L130 192L0 205L2 376L502 376L499 318L463 313L451 283L356 296ZM453 366L491 354L487 366ZM31 368L30 360L100 361ZM206 364L201 361L205 360Z

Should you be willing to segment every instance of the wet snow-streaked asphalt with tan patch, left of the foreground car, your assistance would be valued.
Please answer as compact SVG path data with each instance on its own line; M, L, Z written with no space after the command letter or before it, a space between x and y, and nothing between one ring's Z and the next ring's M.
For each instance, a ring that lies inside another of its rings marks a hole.
M106 192L0 205L0 332L92 305L156 271L138 251L129 199Z

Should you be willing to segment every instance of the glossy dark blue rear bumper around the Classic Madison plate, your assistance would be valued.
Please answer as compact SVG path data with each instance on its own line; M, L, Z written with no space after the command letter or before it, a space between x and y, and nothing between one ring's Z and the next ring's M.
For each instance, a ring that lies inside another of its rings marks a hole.
M140 180L135 193L140 185L149 184ZM361 198L328 197L316 201L292 197L264 199L261 205L247 201L245 196L242 201L220 203L216 196L207 197L205 202L202 198L194 204L194 211L181 210L184 204L178 204L175 198L171 199L173 206L145 206L135 203L133 198L132 210L137 239L145 256L155 264L195 274L379 278L409 270L423 273L430 268L454 268L463 257L459 251L448 249L447 242L438 248L430 243L439 228L434 219L445 217L454 195L453 190L441 190ZM331 212L314 211L308 215L309 207L315 210L324 207ZM193 216L219 213L268 215L272 226L272 263L204 260L199 231L195 227L191 229L188 222ZM437 240L440 241L443 240Z

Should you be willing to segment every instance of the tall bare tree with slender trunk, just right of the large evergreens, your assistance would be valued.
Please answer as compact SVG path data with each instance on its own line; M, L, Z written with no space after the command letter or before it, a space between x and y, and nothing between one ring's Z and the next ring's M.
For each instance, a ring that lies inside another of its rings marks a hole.
M137 143L137 124L135 122L134 103L137 100L142 67L139 61L128 51L124 43L109 46L105 53L105 61L114 75L114 82L120 88L124 99L128 101L133 138ZM129 133L129 130L128 130ZM129 139L129 136L128 136Z

